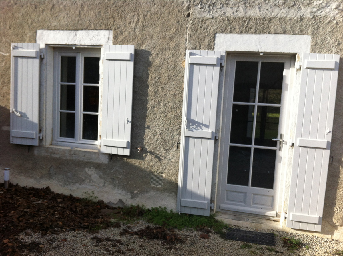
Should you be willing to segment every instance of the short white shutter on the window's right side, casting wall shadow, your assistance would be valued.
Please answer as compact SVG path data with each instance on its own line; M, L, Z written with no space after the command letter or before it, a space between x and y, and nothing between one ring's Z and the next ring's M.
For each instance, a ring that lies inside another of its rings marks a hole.
M130 155L134 46L104 46L100 151Z

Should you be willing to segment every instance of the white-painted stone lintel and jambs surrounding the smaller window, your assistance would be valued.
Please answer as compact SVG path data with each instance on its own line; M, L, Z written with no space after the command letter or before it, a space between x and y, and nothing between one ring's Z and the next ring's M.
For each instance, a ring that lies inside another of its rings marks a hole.
M66 47L66 49L78 48L99 48L103 56L103 46L113 45L112 30L37 30L36 42L40 44L40 52L42 54L40 65L40 97L39 97L39 129L43 134L44 146L57 146L54 141L53 125L54 125L54 54L56 47ZM102 93L102 58L100 58L100 81L99 81L99 122L101 120L101 93ZM59 144L58 146L66 146L71 148L94 149L99 151L100 140L96 145L76 143Z

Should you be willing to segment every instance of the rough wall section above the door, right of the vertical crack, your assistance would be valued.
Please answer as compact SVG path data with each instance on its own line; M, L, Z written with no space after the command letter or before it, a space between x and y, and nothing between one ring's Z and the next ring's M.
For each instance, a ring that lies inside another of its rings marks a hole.
M343 53L341 1L191 1L187 48L213 49L216 33L311 36L311 52ZM323 220L343 221L343 65L340 58L335 118Z

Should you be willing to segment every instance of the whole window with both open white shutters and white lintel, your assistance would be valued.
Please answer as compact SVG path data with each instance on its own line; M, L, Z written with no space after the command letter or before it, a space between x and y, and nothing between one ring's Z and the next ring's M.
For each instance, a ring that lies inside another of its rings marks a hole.
M112 40L37 30L36 44L12 43L11 143L130 155L134 46Z

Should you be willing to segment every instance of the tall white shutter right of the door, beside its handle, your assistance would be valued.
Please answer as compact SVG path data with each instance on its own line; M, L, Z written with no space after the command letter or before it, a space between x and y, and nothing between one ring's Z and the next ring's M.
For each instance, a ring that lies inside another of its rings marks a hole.
M339 55L306 53L286 226L320 231L336 97Z

